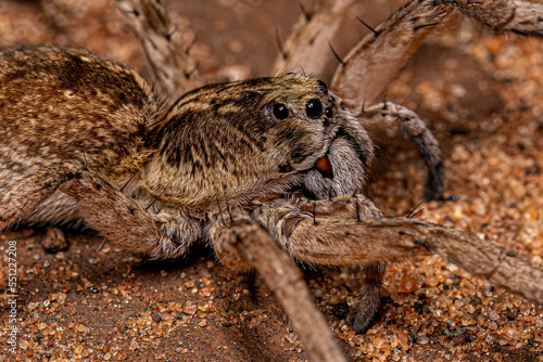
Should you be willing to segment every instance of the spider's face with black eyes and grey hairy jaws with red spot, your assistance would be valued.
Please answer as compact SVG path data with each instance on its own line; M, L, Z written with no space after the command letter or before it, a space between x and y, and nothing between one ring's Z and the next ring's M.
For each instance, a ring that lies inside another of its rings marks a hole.
M264 100L274 128L272 150L289 151L303 172L307 197L323 199L362 191L374 144L361 122L325 82L299 75L273 78L278 89ZM282 121L282 124L281 124Z

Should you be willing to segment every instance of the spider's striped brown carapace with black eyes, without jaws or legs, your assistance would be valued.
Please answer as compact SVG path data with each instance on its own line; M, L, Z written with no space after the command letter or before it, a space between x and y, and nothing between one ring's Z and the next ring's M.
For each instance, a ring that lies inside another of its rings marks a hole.
M305 183L313 192L312 171L339 180L343 171L336 168L349 170L336 159L343 155L342 140L362 142L338 104L323 81L294 74L197 89L166 116L147 169L148 189L159 193L168 183L161 199L191 206Z

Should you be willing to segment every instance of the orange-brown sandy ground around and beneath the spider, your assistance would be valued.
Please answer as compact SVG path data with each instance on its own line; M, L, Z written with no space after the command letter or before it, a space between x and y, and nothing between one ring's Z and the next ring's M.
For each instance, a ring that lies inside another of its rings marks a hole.
M177 28L209 79L264 76L300 14L291 1L178 1ZM361 1L352 14L377 25L397 1ZM367 31L354 16L340 54ZM277 30L276 30L277 29ZM86 48L147 74L137 41L106 0L0 0L0 47ZM330 56L331 57L331 56ZM427 121L440 140L447 201L419 217L476 234L543 268L543 43L481 31L469 22L421 47L387 98ZM323 75L325 79L329 74ZM379 145L369 196L388 216L422 201L424 168L401 134ZM201 248L176 262L149 262L101 238L67 233L70 247L45 251L41 230L0 243L0 292L9 294L9 241L16 241L18 327L7 340L2 298L0 361L303 361L277 299L258 275L238 275ZM15 245L15 243L11 243ZM318 308L353 361L542 361L543 309L470 277L438 257L391 264L370 329L345 323L351 272L306 271Z

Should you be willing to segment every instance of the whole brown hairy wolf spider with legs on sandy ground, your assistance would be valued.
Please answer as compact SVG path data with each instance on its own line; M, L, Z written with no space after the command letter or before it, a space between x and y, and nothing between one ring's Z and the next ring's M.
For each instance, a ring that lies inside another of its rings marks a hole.
M305 9L276 68L296 68L301 56L318 74L339 22L330 14L350 3ZM202 86L160 4L118 5L164 92ZM441 152L424 121L392 102L364 105L456 10L495 30L543 34L538 3L411 1L340 60L333 91L286 74L198 88L172 105L134 70L91 53L48 47L0 53L0 152L8 155L0 160L0 228L83 219L155 259L178 258L204 238L226 267L261 272L314 361L344 355L292 259L366 264L351 314L356 332L379 303L383 260L419 248L541 303L542 271L471 235L383 218L358 193L374 154L363 125L397 122L428 168L426 198L441 196ZM39 128L37 115L46 116Z

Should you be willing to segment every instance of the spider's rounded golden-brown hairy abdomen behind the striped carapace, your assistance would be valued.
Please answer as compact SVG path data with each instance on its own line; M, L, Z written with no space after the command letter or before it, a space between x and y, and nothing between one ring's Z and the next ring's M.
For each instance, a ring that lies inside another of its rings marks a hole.
M0 194L31 188L65 163L84 163L118 183L151 155L147 135L162 103L136 73L84 51L28 48L0 55ZM62 194L28 222L80 219Z

